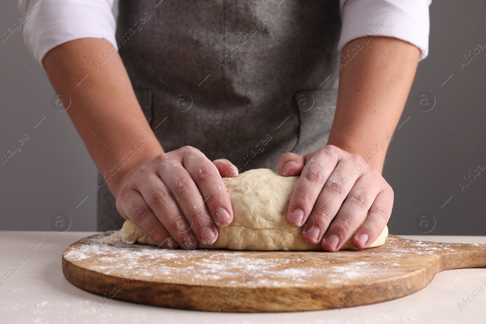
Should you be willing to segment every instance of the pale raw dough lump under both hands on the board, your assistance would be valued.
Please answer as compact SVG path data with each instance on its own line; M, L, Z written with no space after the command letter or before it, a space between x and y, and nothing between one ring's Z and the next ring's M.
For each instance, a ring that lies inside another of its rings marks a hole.
M235 178L223 178L233 207L233 222L227 227L218 227L219 236L214 244L199 244L198 248L322 250L320 244L312 245L302 239L302 227L294 227L287 221L289 201L298 179L298 176L283 177L270 169L255 169ZM387 236L388 227L385 226L382 234L368 248L383 245ZM123 224L120 238L126 244L158 245L131 220ZM351 239L352 235L340 250L356 249Z

